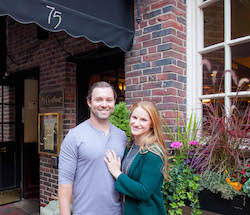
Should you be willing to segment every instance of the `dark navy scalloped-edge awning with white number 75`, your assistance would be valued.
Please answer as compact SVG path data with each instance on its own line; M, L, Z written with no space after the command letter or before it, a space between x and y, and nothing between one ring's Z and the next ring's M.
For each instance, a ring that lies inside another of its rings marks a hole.
M0 15L124 51L132 47L134 0L0 0Z

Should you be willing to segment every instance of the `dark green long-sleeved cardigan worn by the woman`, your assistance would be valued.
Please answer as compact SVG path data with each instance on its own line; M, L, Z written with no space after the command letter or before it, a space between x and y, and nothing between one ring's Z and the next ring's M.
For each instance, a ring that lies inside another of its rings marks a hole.
M125 151L124 158L128 153ZM124 215L165 215L161 187L164 180L162 159L148 151L138 153L128 175L122 173L116 180L115 189L126 195Z

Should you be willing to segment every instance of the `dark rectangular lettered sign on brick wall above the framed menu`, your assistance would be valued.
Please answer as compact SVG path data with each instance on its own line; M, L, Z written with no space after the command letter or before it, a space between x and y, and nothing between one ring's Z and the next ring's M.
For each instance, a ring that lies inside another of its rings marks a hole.
M63 90L48 91L40 93L40 108L63 108Z

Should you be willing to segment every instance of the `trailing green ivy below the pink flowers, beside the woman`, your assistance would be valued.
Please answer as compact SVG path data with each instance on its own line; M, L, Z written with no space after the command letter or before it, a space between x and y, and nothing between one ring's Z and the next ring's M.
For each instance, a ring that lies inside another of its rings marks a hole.
M169 178L170 180L165 181L162 186L164 205L168 213L182 214L182 207L188 202L193 208L192 215L201 214L198 199L199 176L194 174L183 160L174 158Z

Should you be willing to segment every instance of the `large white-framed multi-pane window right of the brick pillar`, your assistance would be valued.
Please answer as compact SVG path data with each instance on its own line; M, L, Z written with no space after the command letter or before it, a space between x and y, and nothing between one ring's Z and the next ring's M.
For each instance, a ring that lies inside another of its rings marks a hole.
M188 114L201 118L202 101L211 99L228 115L237 97L249 108L249 23L250 1L187 1Z

